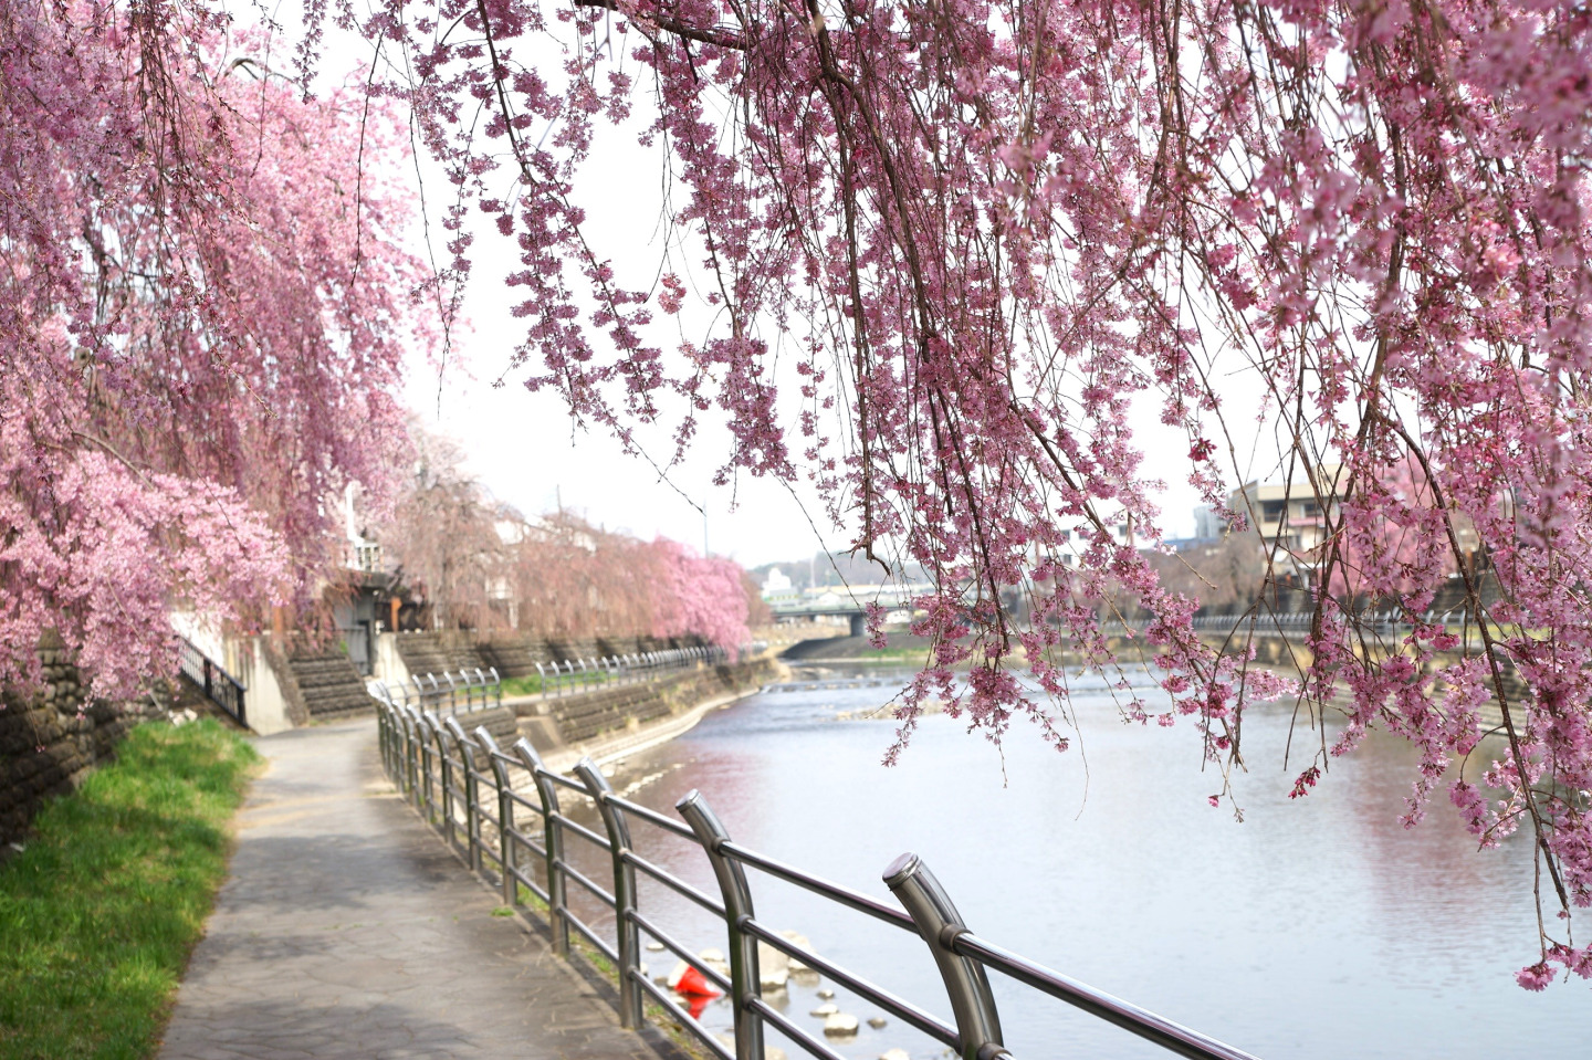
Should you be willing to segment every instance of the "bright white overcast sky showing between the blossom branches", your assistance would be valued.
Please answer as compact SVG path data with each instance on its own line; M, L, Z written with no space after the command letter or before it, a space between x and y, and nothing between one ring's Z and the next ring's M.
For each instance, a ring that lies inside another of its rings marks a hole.
M353 68L368 54L363 41L347 43L342 38L325 53L323 70L330 75L336 68ZM645 116L648 107L650 99L638 94L637 115ZM532 132L540 135L537 129ZM422 167L436 172L427 162ZM412 162L404 162L404 172L412 181ZM427 178L433 220L438 199L446 199L449 191L439 173ZM581 170L575 197L587 210L587 237L600 255L613 259L619 282L630 288L651 286L664 253L659 242L662 193L657 156L638 146L634 132L599 127L599 140ZM747 567L804 559L821 548L845 548L849 533L828 525L821 505L802 485L793 495L778 482L747 474L731 487L712 485L713 471L729 450L716 412L704 415L694 450L670 471L670 484L661 481L646 462L626 457L600 428L575 431L556 395L529 393L514 377L492 388L492 380L505 371L524 333L525 322L514 320L508 312L521 301L521 290L506 288L501 282L517 259L508 240L486 229L478 231L471 258L474 271L465 299L470 328L455 334L454 360L441 384L433 364L412 358L406 399L430 430L463 446L470 470L494 495L527 514L546 512L562 503L592 522L642 538L665 535L699 549L705 540L712 552L731 555ZM691 250L677 250L670 267L689 285L688 269L697 258L700 255ZM700 337L705 323L688 322L696 328L691 337ZM664 345L667 353L669 344ZM1151 401L1141 404L1137 420L1140 446L1146 452L1145 471L1169 484L1162 495L1162 528L1169 536L1192 533L1192 508L1199 497L1184 479L1188 442L1180 433L1161 427ZM650 455L659 463L672 454L662 431L651 435L648 442Z

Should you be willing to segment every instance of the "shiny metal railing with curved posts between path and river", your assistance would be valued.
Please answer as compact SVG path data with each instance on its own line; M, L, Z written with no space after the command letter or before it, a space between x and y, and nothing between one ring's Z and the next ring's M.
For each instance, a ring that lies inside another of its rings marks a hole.
M570 778L546 769L537 750L524 738L505 751L486 727L466 732L455 716L422 711L390 697L377 702L387 775L473 871L498 882L506 906L524 907L527 894L535 894L546 906L554 952L568 955L573 931L613 963L619 980L619 1022L624 1027L642 1025L645 1001L650 1000L720 1060L763 1060L763 1036L769 1025L814 1057L844 1060L825 1041L764 1000L758 965L759 944L766 944L949 1046L963 1060L1011 1055L1001 1044L990 971L1116 1023L1178 1055L1197 1060L1254 1060L1247 1052L973 934L950 896L917 855L903 855L884 872L884 882L903 912L736 844L697 791L675 804L685 821L681 823L616 794L591 759L581 759L575 766L576 778ZM514 783L516 777L519 785ZM602 834L572 820L560 809L560 789L595 804L602 816ZM522 813L530 815L529 828L522 824ZM699 845L718 882L718 896L697 890L638 853L632 826L662 831ZM607 855L613 890L572 863L565 850L570 837ZM944 980L952 1022L825 960L758 920L748 869L923 939ZM640 907L637 874L656 880L723 922L729 976L693 955L651 912ZM611 941L572 909L570 885L613 910ZM667 988L646 977L640 965L643 934L729 996L734 1049L712 1036Z

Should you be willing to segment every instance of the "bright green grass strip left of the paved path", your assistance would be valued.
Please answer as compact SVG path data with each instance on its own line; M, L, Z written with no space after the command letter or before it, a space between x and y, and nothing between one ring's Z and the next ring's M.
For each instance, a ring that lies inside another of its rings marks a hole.
M154 1055L204 933L255 750L145 724L0 866L0 1057Z

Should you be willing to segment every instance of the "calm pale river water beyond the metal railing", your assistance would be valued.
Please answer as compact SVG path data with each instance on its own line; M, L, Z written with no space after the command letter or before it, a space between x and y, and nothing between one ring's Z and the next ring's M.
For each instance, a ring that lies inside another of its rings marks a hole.
M931 716L885 769L893 723L837 715L890 696L761 692L608 772L629 797L670 815L699 788L737 842L885 901L880 872L915 852L982 937L1264 1058L1592 1057L1584 980L1543 995L1514 984L1535 953L1527 837L1477 853L1446 802L1404 829L1415 756L1403 740L1372 734L1309 797L1290 801L1299 769L1282 767L1290 711L1251 710L1237 823L1226 802L1207 802L1219 781L1200 770L1192 726L1127 726L1103 689L1075 699L1079 737L1065 754L1020 724L997 748ZM634 829L645 856L716 896L699 848ZM599 861L578 859L610 879ZM915 936L750 875L759 920L801 931L820 953L949 1020ZM643 885L642 909L696 950L724 949L721 923L656 883ZM673 965L667 953L645 957L654 976ZM1170 1055L992 979L1017 1057ZM793 982L777 998L815 1033L817 988ZM842 1012L877 1014L837 993ZM731 1023L723 1001L700 1019L713 1031ZM772 1030L769 1042L804 1055ZM890 1047L944 1055L899 1020L829 1044L858 1060Z

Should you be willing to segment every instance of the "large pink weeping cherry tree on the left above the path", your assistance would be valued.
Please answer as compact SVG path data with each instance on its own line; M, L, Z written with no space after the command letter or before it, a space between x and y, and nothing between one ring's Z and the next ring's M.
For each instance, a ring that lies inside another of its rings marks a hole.
M309 602L380 490L420 275L379 102L307 99L204 3L0 0L0 683L89 694L167 608Z

